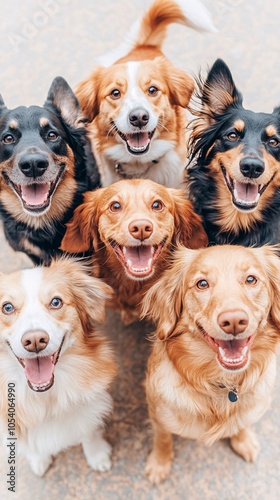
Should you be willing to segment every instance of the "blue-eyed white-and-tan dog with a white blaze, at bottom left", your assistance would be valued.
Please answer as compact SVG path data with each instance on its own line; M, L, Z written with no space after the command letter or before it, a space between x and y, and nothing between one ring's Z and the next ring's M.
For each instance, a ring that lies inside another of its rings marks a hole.
M14 436L38 476L53 455L80 443L90 467L111 467L102 427L116 367L95 326L110 294L70 259L0 275L1 440L7 449Z

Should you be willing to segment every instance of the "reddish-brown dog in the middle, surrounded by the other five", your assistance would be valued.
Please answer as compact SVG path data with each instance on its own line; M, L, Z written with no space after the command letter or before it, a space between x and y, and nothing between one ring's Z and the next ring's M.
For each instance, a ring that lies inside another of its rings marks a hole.
M183 191L148 179L123 180L86 193L68 224L62 250L94 249L95 274L115 291L111 305L128 323L168 264L178 242L207 244L200 217Z

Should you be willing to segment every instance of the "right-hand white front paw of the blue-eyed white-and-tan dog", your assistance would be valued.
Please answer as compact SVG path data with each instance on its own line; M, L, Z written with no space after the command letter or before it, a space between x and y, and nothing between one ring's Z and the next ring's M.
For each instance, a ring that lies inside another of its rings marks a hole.
M83 445L88 465L98 472L107 472L112 467L111 445L101 438L92 445Z

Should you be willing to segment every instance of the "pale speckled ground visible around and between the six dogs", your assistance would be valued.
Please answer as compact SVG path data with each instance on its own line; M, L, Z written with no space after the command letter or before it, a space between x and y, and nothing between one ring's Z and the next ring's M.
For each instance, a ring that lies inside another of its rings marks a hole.
M188 1L188 0L186 0ZM87 76L98 56L123 40L131 23L149 4L144 0L14 0L0 1L0 93L9 107L42 104L52 79L62 75L75 86ZM205 0L218 32L200 34L172 26L164 46L177 66L197 73L222 57L255 111L270 112L280 104L279 18L275 0ZM1 233L2 234L2 233ZM0 270L30 265L1 236ZM105 330L119 361L114 385L115 411L107 437L113 445L113 468L92 472L80 447L62 452L45 478L18 467L17 494L5 485L0 465L0 498L37 499L270 499L280 497L280 391L278 379L271 410L255 426L261 453L246 464L226 441L212 448L175 438L176 459L170 479L152 488L143 475L150 449L142 381L150 326L124 327L108 314Z

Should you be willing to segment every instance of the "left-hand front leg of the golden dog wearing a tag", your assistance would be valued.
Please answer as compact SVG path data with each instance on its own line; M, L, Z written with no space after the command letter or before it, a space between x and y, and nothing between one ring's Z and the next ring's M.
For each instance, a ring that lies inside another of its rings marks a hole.
M148 457L145 473L152 484L159 484L169 476L174 457L172 434L153 422L154 446Z

